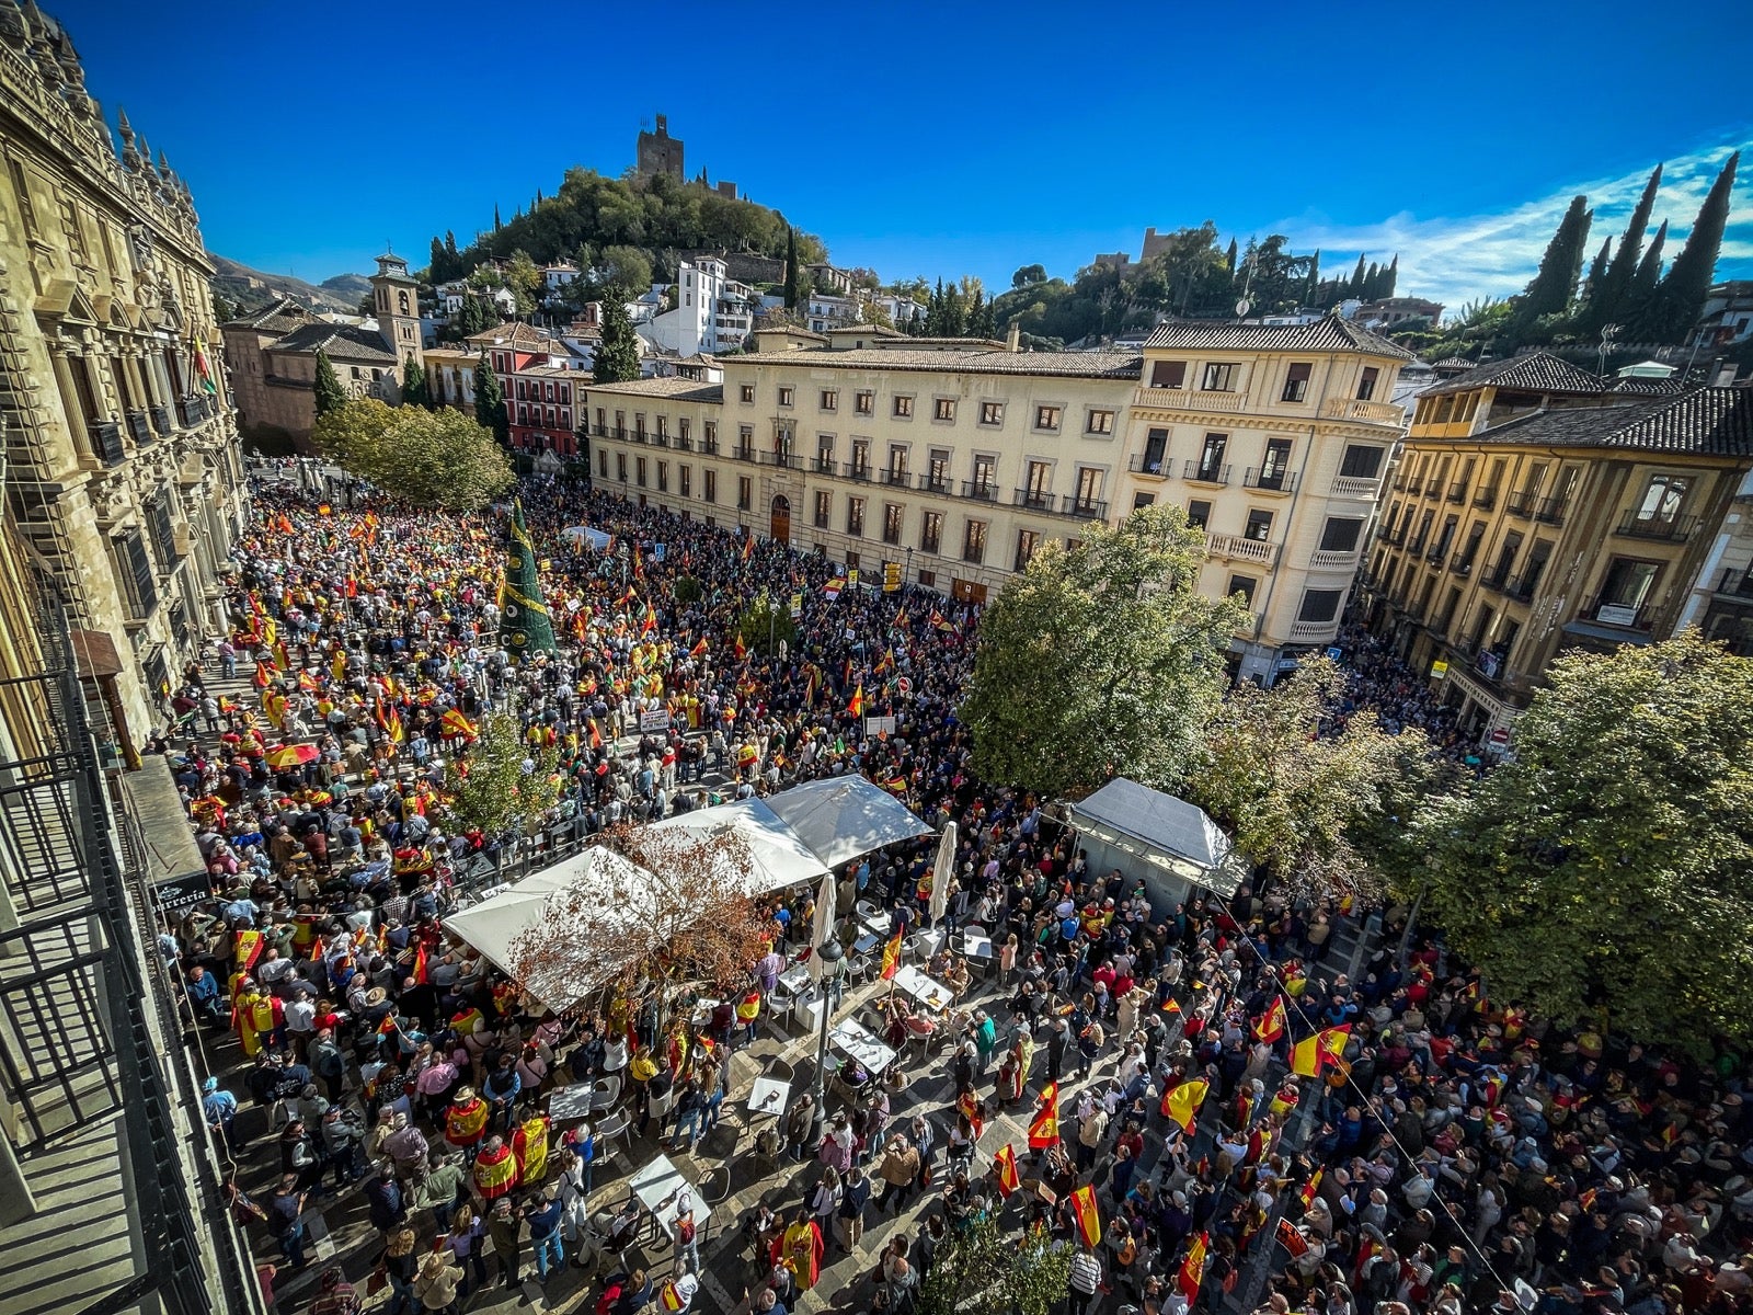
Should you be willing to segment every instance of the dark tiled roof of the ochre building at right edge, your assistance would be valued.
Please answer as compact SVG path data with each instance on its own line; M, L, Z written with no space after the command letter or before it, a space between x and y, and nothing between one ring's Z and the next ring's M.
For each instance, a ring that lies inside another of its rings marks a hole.
M1753 458L1753 389L1695 387L1629 405L1537 410L1467 442Z

